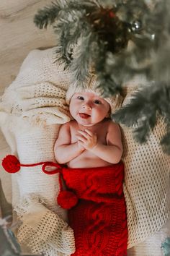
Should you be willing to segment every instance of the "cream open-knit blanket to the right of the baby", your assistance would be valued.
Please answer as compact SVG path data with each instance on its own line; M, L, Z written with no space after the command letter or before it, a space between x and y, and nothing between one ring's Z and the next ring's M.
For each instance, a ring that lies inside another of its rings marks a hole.
M132 90L128 88L129 95ZM132 129L122 126L129 247L155 234L169 218L170 157L159 145L164 129L163 120L158 119L148 142L140 145Z

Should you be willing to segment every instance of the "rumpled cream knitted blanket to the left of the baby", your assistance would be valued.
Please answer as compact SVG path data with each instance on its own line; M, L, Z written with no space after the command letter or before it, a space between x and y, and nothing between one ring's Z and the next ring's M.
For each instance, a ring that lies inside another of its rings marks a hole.
M55 161L59 126L70 120L65 103L68 74L53 64L52 51L32 51L1 97L1 129L22 163ZM43 174L41 166L21 168L12 175L12 184L14 211L22 220L17 231L22 249L71 255L73 230L66 223L66 211L55 202L58 174Z

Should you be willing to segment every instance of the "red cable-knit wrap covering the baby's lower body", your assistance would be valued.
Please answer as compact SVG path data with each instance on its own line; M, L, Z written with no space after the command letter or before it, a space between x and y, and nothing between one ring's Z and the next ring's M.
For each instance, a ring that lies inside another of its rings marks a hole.
M76 252L73 255L125 256L127 219L122 163L99 168L63 168L66 187L78 204L68 210Z

